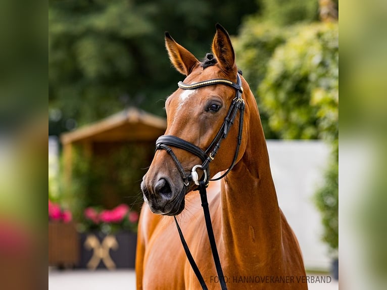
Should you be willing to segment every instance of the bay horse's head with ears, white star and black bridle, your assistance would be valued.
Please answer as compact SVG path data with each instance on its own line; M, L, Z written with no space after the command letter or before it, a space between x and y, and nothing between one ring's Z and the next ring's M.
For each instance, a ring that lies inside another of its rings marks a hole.
M165 45L173 66L186 78L166 100L167 129L141 189L152 212L177 215L199 180L208 183L243 156L247 136L241 128L248 116L244 122L242 96L248 85L238 75L231 40L219 24L212 54L202 62L168 32Z

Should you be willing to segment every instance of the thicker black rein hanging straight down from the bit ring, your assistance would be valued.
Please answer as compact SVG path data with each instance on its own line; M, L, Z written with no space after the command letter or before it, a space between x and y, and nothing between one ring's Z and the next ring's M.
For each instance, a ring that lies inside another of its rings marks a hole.
M202 207L204 212L204 219L206 221L208 239L210 240L212 257L214 258L216 273L218 274L220 287L222 290L227 290L226 281L224 279L222 265L220 264L218 249L216 248L216 241L214 236L214 230L212 228L210 209L208 207L206 183L202 180L199 181L200 199L202 200Z

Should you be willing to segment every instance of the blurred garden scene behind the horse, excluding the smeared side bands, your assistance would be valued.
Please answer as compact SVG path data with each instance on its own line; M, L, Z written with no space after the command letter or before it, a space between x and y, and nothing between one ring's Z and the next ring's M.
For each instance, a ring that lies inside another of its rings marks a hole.
M81 272L133 274L140 180L182 79L164 32L200 59L219 22L256 96L306 268L331 278L310 287L337 288L337 20L330 0L50 1L50 287Z

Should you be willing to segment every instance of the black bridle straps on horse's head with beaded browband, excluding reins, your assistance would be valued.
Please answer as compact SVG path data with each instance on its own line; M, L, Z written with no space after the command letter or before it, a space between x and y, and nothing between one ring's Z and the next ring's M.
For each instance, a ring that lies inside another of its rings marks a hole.
M171 156L172 160L176 164L176 167L179 170L180 175L183 179L184 185L186 187L189 185L191 181L193 181L196 185L199 185L199 176L196 171L198 168L204 171L203 181L206 183L206 185L208 185L208 181L214 181L214 180L219 180L223 178L224 176L227 175L228 172L230 172L232 167L235 165L236 159L238 157L239 147L242 140L243 117L244 117L244 111L245 111L245 103L244 103L244 100L242 99L243 87L241 86L239 74L236 75L236 83L226 79L211 79L211 80L201 81L193 84L185 84L180 81L178 82L177 85L182 89L194 89L194 88L215 85L215 84L224 84L224 85L231 86L235 88L236 94L235 94L235 98L232 100L227 116L224 118L222 126L220 127L218 133L216 134L214 140L211 142L210 146L205 151L203 151L195 144L192 144L186 140L183 140L173 135L160 136L156 141L156 150L164 149L167 151L167 153ZM210 162L214 160L216 154L218 153L218 150L220 148L220 143L222 142L222 140L227 137L227 134L231 128L231 125L234 123L236 113L238 110L240 111L239 130L238 130L238 139L236 143L235 155L234 155L232 164L222 176L216 179L208 180L208 178L210 177L210 167L209 167ZM176 155L173 153L170 146L183 149L185 151L192 153L193 155L196 155L202 160L202 164L195 165L191 168L190 171L186 172L183 166L181 165L180 161L177 159Z

